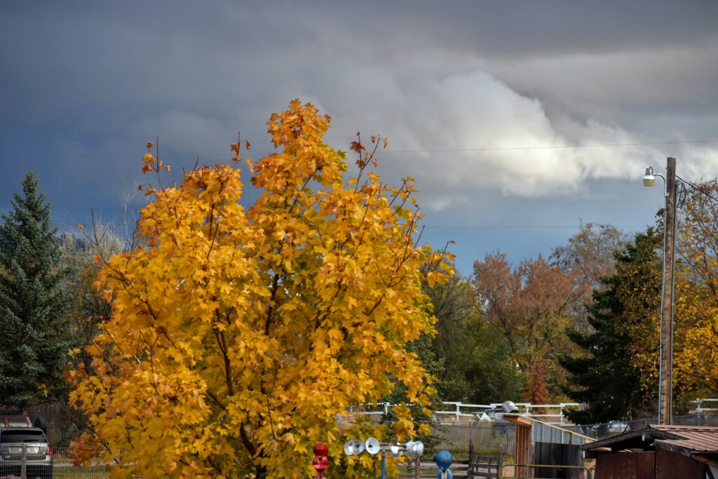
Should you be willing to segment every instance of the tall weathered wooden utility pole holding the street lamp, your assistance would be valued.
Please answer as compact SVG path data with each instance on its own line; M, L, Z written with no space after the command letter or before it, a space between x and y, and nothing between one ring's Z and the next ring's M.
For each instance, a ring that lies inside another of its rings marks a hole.
M666 166L666 214L663 232L661 296L661 367L658 378L658 423L673 422L673 255L676 244L676 159Z

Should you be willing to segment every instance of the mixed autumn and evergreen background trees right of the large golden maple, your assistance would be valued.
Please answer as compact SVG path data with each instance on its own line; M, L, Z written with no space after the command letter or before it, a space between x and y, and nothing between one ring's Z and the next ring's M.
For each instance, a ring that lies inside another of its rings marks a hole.
M633 236L582 223L548 259L513 265L487 254L470 277L452 279L463 289L450 307L447 287L429 292L439 394L579 402L569 411L578 424L656 417L663 213ZM676 251L673 407L685 414L691 400L718 394L718 180L686 190Z

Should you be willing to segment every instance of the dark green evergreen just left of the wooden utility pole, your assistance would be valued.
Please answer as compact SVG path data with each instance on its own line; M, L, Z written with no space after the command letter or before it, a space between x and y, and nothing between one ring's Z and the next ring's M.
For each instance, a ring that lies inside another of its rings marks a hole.
M637 332L651 327L660 304L661 273L656 256L660 242L661 237L649 228L617 252L615 274L601 279L605 289L594 291L593 301L587 305L592 331L568 332L585 352L578 358L561 358L571 383L567 394L587 405L585 410L569 412L569 419L576 424L635 419L650 407L648 397L653 391L641 389L640 371L632 357L637 348L656 347L650 344L650 335L637 337Z

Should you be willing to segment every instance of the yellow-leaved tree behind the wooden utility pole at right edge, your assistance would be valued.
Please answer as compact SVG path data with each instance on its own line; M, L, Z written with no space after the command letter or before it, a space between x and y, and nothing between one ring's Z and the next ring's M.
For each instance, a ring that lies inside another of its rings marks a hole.
M696 185L684 182L679 197L673 276L672 402L673 414L693 409L694 399L718 392L718 180ZM659 211L658 231L663 231L664 210ZM654 278L660 282L656 271ZM652 303L651 320L630 331L635 367L643 390L653 397L659 378L660 286L653 294L636 294L636 301ZM638 291L637 291L638 292Z

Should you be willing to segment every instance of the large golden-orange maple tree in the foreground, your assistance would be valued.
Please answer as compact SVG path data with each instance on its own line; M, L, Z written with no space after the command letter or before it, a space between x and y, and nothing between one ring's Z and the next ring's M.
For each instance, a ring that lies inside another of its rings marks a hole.
M112 317L88 348L93 371L69 373L90 426L78 462L101 457L111 478L300 478L325 442L335 475L376 477L369 455L343 457L337 417L392 381L428 404L406 345L433 331L421 282L447 266L416 244L411 179L383 185L355 142L358 175L345 181L345 154L322 142L329 124L298 100L271 116L279 151L248 160L262 192L248 210L233 166L151 191L148 246L113 256L96 282ZM144 165L162 167L151 154ZM395 411L391 432L364 438L414 437L409 408Z

